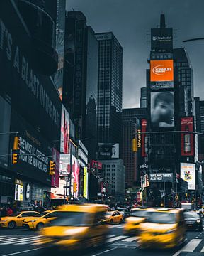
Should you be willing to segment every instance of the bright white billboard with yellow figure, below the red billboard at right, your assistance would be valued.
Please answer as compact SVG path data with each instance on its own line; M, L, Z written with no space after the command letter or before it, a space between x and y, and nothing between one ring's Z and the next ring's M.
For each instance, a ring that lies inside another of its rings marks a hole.
M181 163L181 178L188 182L188 190L196 190L196 164Z

